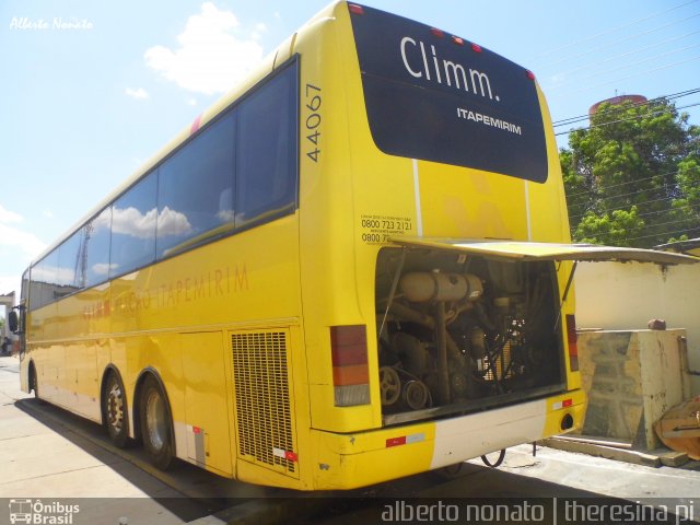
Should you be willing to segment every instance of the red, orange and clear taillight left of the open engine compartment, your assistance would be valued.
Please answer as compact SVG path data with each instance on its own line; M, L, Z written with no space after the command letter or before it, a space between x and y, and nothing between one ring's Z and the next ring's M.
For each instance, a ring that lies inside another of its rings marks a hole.
M330 351L337 407L370 402L368 335L364 325L331 326Z

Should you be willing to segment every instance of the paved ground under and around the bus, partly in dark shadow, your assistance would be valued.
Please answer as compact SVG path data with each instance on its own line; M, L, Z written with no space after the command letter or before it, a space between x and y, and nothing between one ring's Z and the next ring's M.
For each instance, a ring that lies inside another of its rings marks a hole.
M695 505L700 517L698 470L628 465L550 448L538 448L533 457L530 445L510 448L498 469L474 460L456 479L415 476L342 494L350 499L336 493L310 499L238 483L185 463L160 472L139 448L115 448L100 425L21 393L18 368L15 358L0 358L0 524L9 523L10 499L73 501L80 504L75 525L117 524L121 517L129 524L375 523L386 501L411 497L651 498L644 502ZM14 505L16 510L19 503ZM304 511L314 513L304 517Z

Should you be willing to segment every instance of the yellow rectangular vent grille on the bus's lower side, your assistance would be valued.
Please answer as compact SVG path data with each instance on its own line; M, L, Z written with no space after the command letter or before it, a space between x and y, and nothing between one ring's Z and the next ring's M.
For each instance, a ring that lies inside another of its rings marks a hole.
M295 472L285 331L232 334L238 455Z

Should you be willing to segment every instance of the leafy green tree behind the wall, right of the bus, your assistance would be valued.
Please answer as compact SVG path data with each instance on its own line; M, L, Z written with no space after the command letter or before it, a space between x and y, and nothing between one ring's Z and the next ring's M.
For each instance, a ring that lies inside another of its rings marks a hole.
M603 104L560 151L572 236L651 247L700 236L700 128L675 104Z

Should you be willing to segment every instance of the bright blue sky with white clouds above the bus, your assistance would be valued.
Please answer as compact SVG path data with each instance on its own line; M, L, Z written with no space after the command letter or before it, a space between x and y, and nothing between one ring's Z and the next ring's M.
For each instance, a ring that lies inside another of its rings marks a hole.
M326 3L0 0L0 294ZM555 121L700 88L700 0L364 3L532 70ZM700 125L700 93L676 103Z

